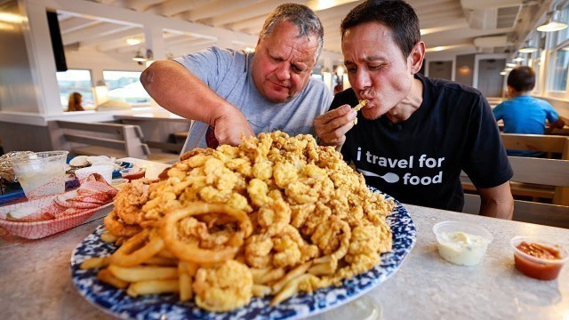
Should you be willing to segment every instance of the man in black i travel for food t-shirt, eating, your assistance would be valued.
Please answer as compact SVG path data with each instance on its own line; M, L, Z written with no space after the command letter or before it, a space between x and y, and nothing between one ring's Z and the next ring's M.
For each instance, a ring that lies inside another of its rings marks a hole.
M341 47L352 88L315 119L321 144L405 204L461 212L464 171L481 196L480 214L511 219L513 172L492 110L476 89L418 73L425 44L413 7L358 4L341 21ZM360 113L351 108L358 100L367 100Z

